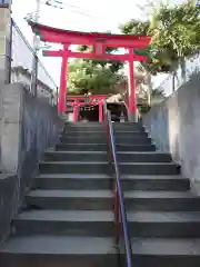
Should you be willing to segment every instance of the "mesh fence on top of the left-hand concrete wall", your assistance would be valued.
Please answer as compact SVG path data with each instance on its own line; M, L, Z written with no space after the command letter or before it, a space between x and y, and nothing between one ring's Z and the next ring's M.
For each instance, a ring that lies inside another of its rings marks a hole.
M12 20L11 81L21 81L31 86L32 62L36 53L23 33ZM51 98L58 90L57 83L42 62L38 61L38 96ZM54 100L53 100L54 101Z

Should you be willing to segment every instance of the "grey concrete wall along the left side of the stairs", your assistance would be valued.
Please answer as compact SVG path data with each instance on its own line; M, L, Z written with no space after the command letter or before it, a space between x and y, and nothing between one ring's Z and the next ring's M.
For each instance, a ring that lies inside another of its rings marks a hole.
M33 98L20 83L0 88L0 241L37 172L43 151L53 147L62 128L57 108Z

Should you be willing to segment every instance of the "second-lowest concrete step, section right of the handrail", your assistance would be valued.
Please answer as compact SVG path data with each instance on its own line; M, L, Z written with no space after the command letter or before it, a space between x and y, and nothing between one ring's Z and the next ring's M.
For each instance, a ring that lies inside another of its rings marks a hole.
M200 212L136 211L128 220L131 237L200 237Z

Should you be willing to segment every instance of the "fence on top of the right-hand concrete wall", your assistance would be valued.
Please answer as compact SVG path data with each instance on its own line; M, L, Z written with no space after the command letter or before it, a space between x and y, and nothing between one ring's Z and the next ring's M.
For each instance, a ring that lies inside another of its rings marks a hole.
M180 66L171 72L158 87L166 96L170 96L173 91L177 91L184 82L190 80L190 77L200 71L200 53L197 53L188 59L183 63L183 68Z

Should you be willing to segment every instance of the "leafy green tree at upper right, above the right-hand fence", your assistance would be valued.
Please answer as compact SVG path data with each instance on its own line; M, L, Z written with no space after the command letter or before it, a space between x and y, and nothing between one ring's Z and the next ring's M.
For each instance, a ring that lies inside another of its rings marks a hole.
M200 7L189 1L183 4L161 6L149 21L131 20L121 26L126 34L151 36L151 46L144 63L152 73L168 72L179 62L200 49Z

